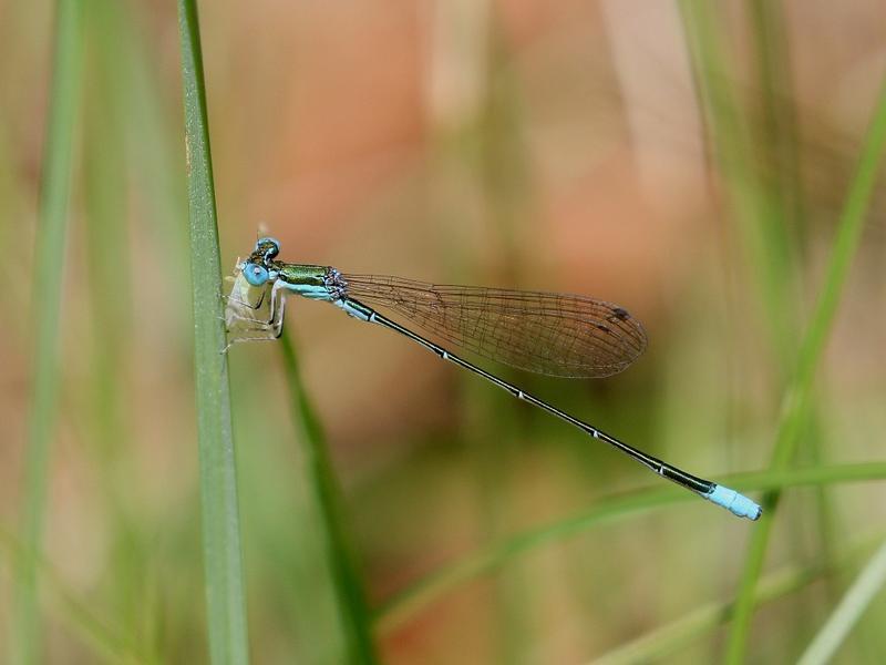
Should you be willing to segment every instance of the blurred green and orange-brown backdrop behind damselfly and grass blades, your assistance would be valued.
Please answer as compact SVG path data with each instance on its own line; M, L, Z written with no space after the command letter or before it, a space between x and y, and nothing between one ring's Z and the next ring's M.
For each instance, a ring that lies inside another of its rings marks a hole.
M13 587L30 556L37 274L62 285L41 657L204 662L176 8L79 4L56 265L35 246L55 6L0 2L0 645L24 638ZM710 11L203 3L224 268L262 226L291 262L619 303L650 337L622 375L495 369L701 475L767 469L886 69L886 12L862 0ZM839 471L883 475L883 204L875 192L785 464L818 480L779 505L752 662L803 653L886 538L884 484ZM287 314L379 610L380 659L722 657L722 610L758 524L662 488L381 328L300 300ZM249 651L257 663L346 662L282 368L280 345L230 352ZM754 497L780 487L745 480ZM882 662L884 621L879 594L841 662Z

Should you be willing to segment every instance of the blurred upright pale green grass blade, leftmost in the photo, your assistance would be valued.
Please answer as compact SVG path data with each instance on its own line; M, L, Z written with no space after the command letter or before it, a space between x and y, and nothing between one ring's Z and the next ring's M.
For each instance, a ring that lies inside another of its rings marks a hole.
M42 549L51 440L58 416L61 374L59 318L64 273L68 201L74 127L83 57L81 7L78 0L59 0L47 144L40 191L39 227L34 247L32 320L37 328L32 351L32 387L28 416L28 443L22 505L25 561L18 577L11 622L13 663L41 661L37 565Z

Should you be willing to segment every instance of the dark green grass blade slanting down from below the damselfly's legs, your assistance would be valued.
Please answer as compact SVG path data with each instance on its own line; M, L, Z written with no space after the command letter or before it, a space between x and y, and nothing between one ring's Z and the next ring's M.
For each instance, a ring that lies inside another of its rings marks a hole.
M291 396L292 423L301 444L303 477L312 508L318 512L326 559L330 567L334 602L348 663L374 663L372 622L341 509L341 498L323 442L320 420L308 400L291 339L282 337L284 370Z

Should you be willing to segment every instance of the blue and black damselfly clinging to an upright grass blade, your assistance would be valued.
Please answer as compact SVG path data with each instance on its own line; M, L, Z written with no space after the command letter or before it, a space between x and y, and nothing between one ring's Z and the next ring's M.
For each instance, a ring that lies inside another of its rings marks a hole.
M384 307L419 328L484 358L556 377L606 377L621 371L646 348L646 332L628 311L585 296L511 289L440 286L379 275L344 275L336 268L277 260L280 243L260 238L237 263L225 314L230 345L280 336L286 296L326 300L362 321L416 341L511 395L565 420L630 456L659 475L756 520L760 507L723 485L687 473L455 356L377 311ZM244 283L245 280L245 283ZM250 301L250 291L260 295Z

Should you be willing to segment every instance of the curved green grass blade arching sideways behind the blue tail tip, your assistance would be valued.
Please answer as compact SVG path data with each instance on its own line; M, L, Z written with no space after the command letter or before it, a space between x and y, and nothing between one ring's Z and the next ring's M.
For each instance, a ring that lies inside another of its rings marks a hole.
M816 487L836 482L883 480L884 478L886 478L886 462L868 462L742 473L722 480L731 488L750 491ZM680 488L657 485L643 492L601 501L590 510L491 543L477 552L462 556L454 563L423 576L384 602L375 613L377 625L382 632L396 630L454 589L475 577L488 574L509 563L514 557L537 548L615 520L624 520L631 515L640 516L650 510L672 503L698 500L698 497Z

